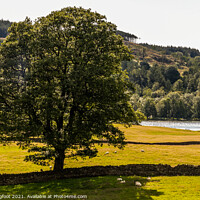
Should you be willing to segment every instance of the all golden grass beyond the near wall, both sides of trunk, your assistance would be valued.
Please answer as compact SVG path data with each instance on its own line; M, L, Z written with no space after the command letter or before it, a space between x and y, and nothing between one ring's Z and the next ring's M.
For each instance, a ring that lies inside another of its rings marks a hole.
M134 142L186 142L200 141L200 132L169 129L163 127L132 126L124 128L128 141ZM133 145L128 144L124 150L104 144L96 145L99 153L92 159L66 159L66 167L83 167L95 165L126 165L126 164L178 164L199 165L200 145L170 146L170 145ZM141 152L144 150L144 152ZM109 154L105 155L105 152ZM117 151L117 153L114 153ZM38 166L25 162L27 150L18 149L16 144L10 146L0 145L0 173L24 173L49 170L49 166ZM53 165L53 163L52 163Z

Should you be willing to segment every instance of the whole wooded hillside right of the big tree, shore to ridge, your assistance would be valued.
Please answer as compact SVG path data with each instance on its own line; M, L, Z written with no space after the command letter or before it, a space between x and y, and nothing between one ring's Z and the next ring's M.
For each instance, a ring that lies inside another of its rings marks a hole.
M200 52L148 44L129 47L140 52L122 63L135 84L134 109L148 119L200 119Z

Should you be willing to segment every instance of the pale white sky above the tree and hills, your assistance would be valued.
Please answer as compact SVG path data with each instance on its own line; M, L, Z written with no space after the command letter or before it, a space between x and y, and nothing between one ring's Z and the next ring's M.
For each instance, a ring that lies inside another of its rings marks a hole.
M6 0L0 18L35 20L68 6L91 8L119 30L139 37L138 43L183 46L200 50L199 0Z

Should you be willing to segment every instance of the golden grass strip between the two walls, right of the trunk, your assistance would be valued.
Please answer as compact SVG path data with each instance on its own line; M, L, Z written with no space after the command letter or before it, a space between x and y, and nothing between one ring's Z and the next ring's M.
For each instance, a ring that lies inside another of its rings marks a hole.
M127 145L124 150L104 145L99 147L98 156L92 159L67 159L65 167L83 167L95 165L126 165L126 164L178 164L199 165L200 148L198 145L158 146L158 145ZM141 150L144 150L142 152ZM109 154L105 155L105 152Z

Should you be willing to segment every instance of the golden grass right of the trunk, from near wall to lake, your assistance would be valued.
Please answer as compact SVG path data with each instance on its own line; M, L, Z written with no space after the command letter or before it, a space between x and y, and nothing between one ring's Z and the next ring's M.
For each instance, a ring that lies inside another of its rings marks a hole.
M200 141L200 132L170 129L163 127L132 126L124 128L117 125L125 132L127 141L133 142L187 142ZM104 144L98 146L98 156L92 159L68 159L65 167L82 167L95 165L126 165L126 164L178 164L199 165L199 145L132 145L128 144L124 150L119 150ZM144 150L144 152L141 152ZM117 151L117 153L114 153ZM105 155L105 152L109 154Z

